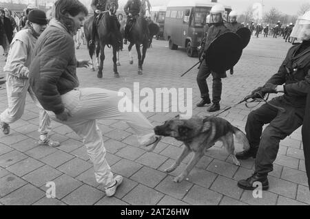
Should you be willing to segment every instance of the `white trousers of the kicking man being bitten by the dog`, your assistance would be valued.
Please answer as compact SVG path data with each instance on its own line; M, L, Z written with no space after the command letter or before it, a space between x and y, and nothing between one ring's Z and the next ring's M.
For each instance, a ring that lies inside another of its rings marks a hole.
M106 89L74 89L61 95L63 104L72 117L66 122L61 122L56 119L53 112L48 111L52 119L68 125L83 138L87 153L94 163L96 181L105 187L112 185L114 178L110 165L105 159L106 150L103 145L103 135L96 122L97 119L114 119L127 122L136 132L138 143L141 145L156 140L154 126L142 113L122 113L118 110L118 102L122 98L124 97L118 96L118 92Z

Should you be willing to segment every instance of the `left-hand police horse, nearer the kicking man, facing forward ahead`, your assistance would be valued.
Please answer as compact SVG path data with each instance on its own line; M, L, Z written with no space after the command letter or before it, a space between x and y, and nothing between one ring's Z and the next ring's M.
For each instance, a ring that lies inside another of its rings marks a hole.
M116 23L116 19L114 18L114 14L116 13L116 5L117 0L110 1L110 10L105 12L101 12L99 16L97 16L97 23L96 23L96 43L94 46L90 46L87 43L87 49L90 54L90 58L94 55L94 51L96 51L96 66L98 67L97 77L103 77L103 61L105 60L105 46L109 47L112 46L113 48L113 71L114 77L119 78L119 74L117 71L117 64L116 64L116 53L120 48L120 42L117 41L118 36L121 36L121 31L119 29L119 24ZM94 16L90 16L84 24L84 32L87 42L90 41L91 34L92 34L92 22L94 21ZM117 26L117 28L116 28ZM99 54L100 56L100 64L99 64ZM94 62L92 60L92 71L94 69Z

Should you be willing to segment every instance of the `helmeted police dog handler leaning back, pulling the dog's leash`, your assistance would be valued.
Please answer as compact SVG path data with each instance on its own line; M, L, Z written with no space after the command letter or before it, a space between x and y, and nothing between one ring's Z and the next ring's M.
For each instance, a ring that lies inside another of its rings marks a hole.
M262 189L268 189L267 174L273 170L280 140L302 125L307 94L310 91L310 12L306 15L303 19L305 22L298 27L297 36L302 43L293 45L278 73L273 75L264 87L256 89L256 93L262 96L278 91L284 92L284 95L275 97L268 104L251 111L247 117L245 131L250 149L237 153L236 157L254 157L256 160L254 174L238 182L238 187L242 189L255 189L256 181L262 183ZM269 125L262 132L265 124ZM309 154L309 143L304 144L304 149L304 152ZM310 176L309 155L306 159Z

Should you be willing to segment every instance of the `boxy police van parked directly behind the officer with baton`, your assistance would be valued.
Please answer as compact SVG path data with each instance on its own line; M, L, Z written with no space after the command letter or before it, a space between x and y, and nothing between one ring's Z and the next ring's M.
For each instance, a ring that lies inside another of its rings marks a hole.
M169 49L185 47L187 55L196 56L197 47L205 34L207 15L217 3L211 0L172 0L167 5L164 25L164 38L169 41ZM228 21L230 6L225 7L225 20Z

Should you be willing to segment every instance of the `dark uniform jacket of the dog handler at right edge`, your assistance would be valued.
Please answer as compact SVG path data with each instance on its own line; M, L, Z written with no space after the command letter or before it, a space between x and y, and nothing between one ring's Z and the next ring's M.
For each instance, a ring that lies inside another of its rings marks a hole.
M296 55L301 47L303 51ZM287 57L278 73L267 83L285 84L285 94L281 98L295 108L304 108L310 91L310 41L293 45L287 52Z

